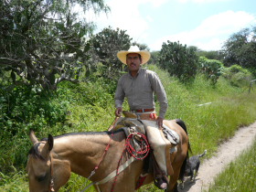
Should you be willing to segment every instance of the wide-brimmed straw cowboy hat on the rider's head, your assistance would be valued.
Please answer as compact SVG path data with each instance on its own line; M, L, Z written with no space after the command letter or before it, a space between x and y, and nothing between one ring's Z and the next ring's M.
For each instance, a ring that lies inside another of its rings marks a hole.
M126 55L129 53L138 53L142 56L142 63L141 65L143 65L144 63L146 63L149 59L150 59L150 52L147 50L140 50L140 48L138 48L137 46L131 46L131 48L129 48L129 50L121 50L117 53L117 58L121 60L121 62L123 62L123 64L127 65L126 63Z

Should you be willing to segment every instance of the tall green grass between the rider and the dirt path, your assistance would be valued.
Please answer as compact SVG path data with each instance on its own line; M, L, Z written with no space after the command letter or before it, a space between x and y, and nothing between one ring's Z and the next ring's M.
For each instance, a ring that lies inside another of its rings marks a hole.
M150 68L158 73L165 86L169 104L165 118L185 121L195 154L208 149L208 155L212 155L219 143L256 119L255 91L249 94L247 89L233 87L223 78L213 86L202 75L186 85L155 66Z

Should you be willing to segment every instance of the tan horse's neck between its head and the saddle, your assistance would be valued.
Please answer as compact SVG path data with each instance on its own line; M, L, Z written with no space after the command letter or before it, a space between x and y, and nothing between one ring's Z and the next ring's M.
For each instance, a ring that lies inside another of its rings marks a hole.
M54 139L53 156L56 160L68 162L73 172L82 175L80 170L87 169L88 174L101 162L108 144L112 153L117 149L123 150L123 138L123 133L80 133L61 136ZM104 158L104 161L110 160Z

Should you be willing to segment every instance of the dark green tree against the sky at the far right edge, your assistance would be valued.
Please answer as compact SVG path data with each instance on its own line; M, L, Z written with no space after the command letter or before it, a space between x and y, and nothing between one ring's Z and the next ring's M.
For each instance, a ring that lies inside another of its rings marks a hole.
M256 27L244 28L233 34L223 46L224 64L238 64L243 68L256 69Z

